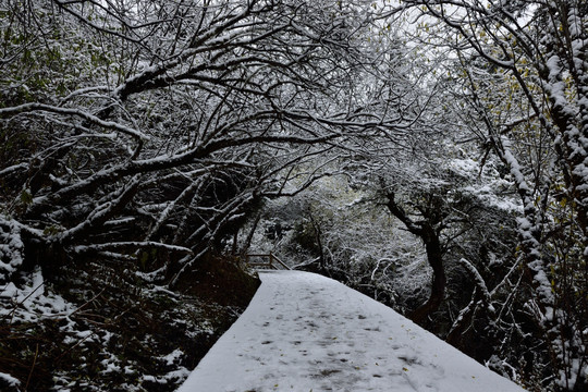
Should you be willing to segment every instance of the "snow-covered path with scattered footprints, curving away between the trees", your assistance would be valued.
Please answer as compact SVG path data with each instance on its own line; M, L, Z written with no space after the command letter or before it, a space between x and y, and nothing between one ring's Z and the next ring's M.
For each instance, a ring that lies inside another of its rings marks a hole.
M179 391L523 391L339 282L259 275L249 307Z

